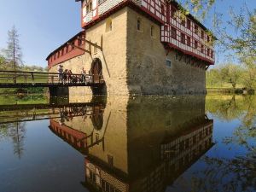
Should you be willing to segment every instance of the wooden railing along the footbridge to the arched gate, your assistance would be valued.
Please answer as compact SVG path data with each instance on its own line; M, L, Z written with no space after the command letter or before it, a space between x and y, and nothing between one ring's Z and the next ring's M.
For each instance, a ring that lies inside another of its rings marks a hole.
M102 84L102 75L0 71L0 84Z

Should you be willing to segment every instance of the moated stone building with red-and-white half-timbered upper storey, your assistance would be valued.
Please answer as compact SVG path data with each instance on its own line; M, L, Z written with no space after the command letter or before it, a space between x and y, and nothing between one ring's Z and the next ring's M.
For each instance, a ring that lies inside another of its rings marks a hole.
M76 1L83 30L49 54L49 72L84 67L108 95L206 93L214 37L175 1Z

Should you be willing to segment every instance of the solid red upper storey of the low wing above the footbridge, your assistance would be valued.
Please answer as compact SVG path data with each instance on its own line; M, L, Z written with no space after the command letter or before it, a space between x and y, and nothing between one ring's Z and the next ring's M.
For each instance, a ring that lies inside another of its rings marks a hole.
M46 58L48 67L53 67L61 62L68 61L76 56L84 55L84 44L82 40L85 38L85 33L79 32L73 38L69 39L65 44L62 44L58 49L55 49Z

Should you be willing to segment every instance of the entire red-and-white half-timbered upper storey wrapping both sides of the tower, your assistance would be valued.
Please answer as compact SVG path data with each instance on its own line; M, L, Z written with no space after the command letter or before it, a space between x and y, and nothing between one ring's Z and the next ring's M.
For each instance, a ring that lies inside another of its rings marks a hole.
M212 46L212 35L207 32L193 15L180 19L177 13L179 7L176 1L166 0L76 0L82 4L82 27L86 30L97 22L125 6L135 9L148 19L161 26L161 42L166 49L177 49L183 54L191 55L205 66L213 65L215 55Z

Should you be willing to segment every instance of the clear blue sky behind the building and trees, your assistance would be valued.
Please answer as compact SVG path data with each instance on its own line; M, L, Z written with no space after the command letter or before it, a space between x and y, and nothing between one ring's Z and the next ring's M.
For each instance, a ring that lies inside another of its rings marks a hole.
M238 10L244 2L251 9L256 8L256 0L217 0L214 9L227 19L230 6ZM23 61L46 67L47 55L81 31L80 3L75 0L0 0L0 24L0 49L6 46L7 32L15 25L20 33ZM204 24L211 26L211 15ZM224 61L222 55L218 58L218 62Z

